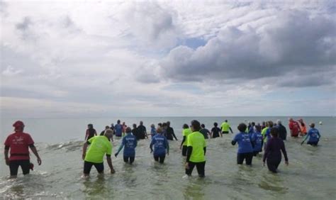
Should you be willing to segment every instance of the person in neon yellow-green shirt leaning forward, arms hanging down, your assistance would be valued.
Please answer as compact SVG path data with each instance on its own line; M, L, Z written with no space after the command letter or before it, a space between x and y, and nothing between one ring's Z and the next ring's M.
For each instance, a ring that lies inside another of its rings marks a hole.
M112 138L113 131L108 129L105 131L105 135L96 136L87 140L83 146L82 159L84 160L84 177L89 177L91 167L94 165L99 174L103 174L103 156L106 154L106 160L108 167L110 167L111 174L114 174L116 171L113 169L111 153L112 153L112 144L110 139ZM86 149L90 145L89 150L86 152Z

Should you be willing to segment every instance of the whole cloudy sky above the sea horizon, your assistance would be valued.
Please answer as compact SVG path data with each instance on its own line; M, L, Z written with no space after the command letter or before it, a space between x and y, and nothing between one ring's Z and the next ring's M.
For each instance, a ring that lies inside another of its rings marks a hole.
M1 118L335 116L335 1L2 1Z

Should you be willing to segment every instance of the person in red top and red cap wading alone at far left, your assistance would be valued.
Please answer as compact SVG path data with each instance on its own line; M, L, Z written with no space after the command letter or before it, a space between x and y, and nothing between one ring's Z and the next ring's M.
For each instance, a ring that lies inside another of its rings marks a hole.
M38 150L35 148L33 138L31 138L28 133L23 133L23 129L25 128L23 122L16 121L13 127L15 133L9 135L4 143L4 156L6 165L9 165L11 178L16 178L19 166L21 166L23 175L29 174L30 169L33 167L33 164L30 163L28 148L30 148L33 154L38 158L38 165L41 165L42 161L38 155ZM11 150L10 157L9 150Z

